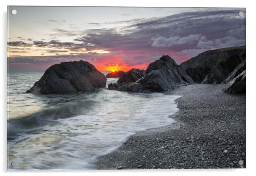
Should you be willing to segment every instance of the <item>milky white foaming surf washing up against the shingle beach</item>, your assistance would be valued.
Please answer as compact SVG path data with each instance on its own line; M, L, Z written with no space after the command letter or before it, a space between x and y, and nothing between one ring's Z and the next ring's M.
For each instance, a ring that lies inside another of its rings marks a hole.
M16 169L93 168L99 156L114 151L135 132L173 124L168 116L178 111L178 97L102 89L89 96L97 104L81 115L52 121L11 140L9 163L15 161Z

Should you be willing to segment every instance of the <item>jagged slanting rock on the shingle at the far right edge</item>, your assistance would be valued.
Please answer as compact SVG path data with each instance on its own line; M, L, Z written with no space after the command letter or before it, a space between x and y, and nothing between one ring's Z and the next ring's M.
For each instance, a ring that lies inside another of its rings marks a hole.
M245 71L228 82L222 90L227 93L245 93Z

